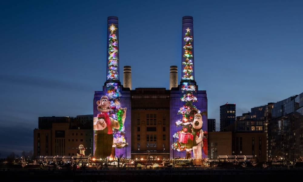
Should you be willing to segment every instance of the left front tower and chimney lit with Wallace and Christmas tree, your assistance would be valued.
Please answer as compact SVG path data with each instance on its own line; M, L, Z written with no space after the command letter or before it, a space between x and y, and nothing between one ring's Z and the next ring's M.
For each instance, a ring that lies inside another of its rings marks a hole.
M121 107L121 83L119 80L118 17L107 19L106 82L103 91L94 96L94 157L106 158L123 154L128 146L125 137L127 108Z

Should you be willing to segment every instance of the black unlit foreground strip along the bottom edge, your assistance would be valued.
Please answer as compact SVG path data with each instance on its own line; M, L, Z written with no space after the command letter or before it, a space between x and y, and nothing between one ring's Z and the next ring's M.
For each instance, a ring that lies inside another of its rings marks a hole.
M303 170L18 170L2 169L1 181L282 181L302 179ZM6 179L6 180L4 180Z

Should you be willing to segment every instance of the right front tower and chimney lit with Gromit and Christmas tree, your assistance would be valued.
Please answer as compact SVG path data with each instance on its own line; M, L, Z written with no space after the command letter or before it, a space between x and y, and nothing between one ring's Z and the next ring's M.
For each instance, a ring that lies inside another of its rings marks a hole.
M202 159L208 157L207 95L195 81L191 16L182 18L181 49L181 82L170 94L170 157Z

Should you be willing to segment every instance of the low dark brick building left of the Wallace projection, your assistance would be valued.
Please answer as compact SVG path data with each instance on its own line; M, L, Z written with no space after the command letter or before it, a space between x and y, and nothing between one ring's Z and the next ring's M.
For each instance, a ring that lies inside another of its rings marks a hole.
M92 115L39 117L38 129L34 130L34 156L74 156L80 145L88 155L92 153L92 138Z

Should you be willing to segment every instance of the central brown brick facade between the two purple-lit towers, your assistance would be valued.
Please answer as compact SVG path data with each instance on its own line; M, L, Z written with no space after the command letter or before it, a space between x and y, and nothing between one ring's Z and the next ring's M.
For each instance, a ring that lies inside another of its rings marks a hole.
M132 159L169 158L170 90L136 88L132 97Z

